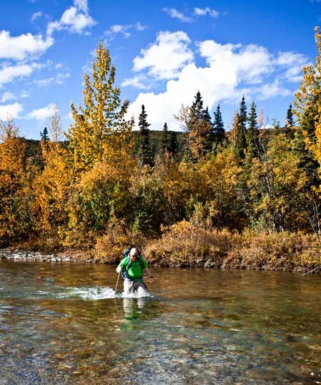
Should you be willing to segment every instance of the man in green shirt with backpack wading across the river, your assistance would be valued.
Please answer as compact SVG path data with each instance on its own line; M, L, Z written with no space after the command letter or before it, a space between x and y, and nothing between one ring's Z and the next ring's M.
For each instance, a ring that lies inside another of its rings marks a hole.
M138 297L144 297L147 294L147 287L143 282L143 272L148 275L150 282L153 282L153 275L149 272L146 260L139 255L136 247L132 247L125 255L126 257L121 260L116 269L116 272L123 273L124 294L137 294Z

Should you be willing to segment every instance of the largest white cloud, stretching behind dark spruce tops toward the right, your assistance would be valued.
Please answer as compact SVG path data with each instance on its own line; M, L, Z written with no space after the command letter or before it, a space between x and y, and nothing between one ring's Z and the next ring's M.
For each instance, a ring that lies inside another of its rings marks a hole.
M189 41L187 35L184 41ZM150 76L152 81L155 81L155 73L158 79L165 78L161 76L161 64L154 65L147 60L150 48L141 54L142 59L146 58L141 68L150 70L146 77ZM135 116L137 119L143 104L152 129L161 129L166 121L170 130L178 130L179 124L173 116L178 114L182 103L185 106L193 103L198 90L210 110L217 103L239 101L243 93L257 100L288 96L293 92L289 88L291 76L300 76L297 68L307 63L307 58L297 53L275 55L255 44L220 44L213 40L198 43L197 53L205 60L204 66L197 66L195 61L190 60L193 53L190 53L189 60L178 61L180 64L174 66L175 71L172 71L176 77L168 78L165 91L139 93L128 108L128 117ZM165 58L163 56L161 63L165 62ZM137 71L139 68L133 69Z

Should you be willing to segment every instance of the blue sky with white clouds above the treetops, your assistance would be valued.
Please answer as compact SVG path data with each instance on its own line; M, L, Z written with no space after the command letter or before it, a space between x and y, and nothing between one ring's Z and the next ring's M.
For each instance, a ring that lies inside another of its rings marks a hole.
M36 139L55 105L68 130L99 41L128 117L144 104L151 129L180 129L173 116L198 90L211 116L220 103L226 129L243 94L267 125L284 124L321 23L317 0L2 0L0 10L0 119Z

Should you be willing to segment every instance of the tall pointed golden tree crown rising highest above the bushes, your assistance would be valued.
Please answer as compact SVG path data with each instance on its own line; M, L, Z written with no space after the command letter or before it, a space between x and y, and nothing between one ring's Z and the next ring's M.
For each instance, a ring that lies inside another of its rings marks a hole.
M83 76L83 106L71 103L74 123L68 140L75 172L90 170L96 162L121 160L133 121L125 120L128 101L121 103L121 91L114 85L116 69L103 43L96 49L92 79ZM116 158L114 158L116 157Z

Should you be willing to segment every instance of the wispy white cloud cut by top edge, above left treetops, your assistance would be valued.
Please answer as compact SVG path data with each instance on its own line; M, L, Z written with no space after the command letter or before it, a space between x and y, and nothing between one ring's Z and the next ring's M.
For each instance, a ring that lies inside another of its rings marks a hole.
M51 21L47 26L47 35L51 36L54 31L68 30L76 34L96 25L96 21L88 14L86 0L74 0L73 6L66 9L59 21Z

